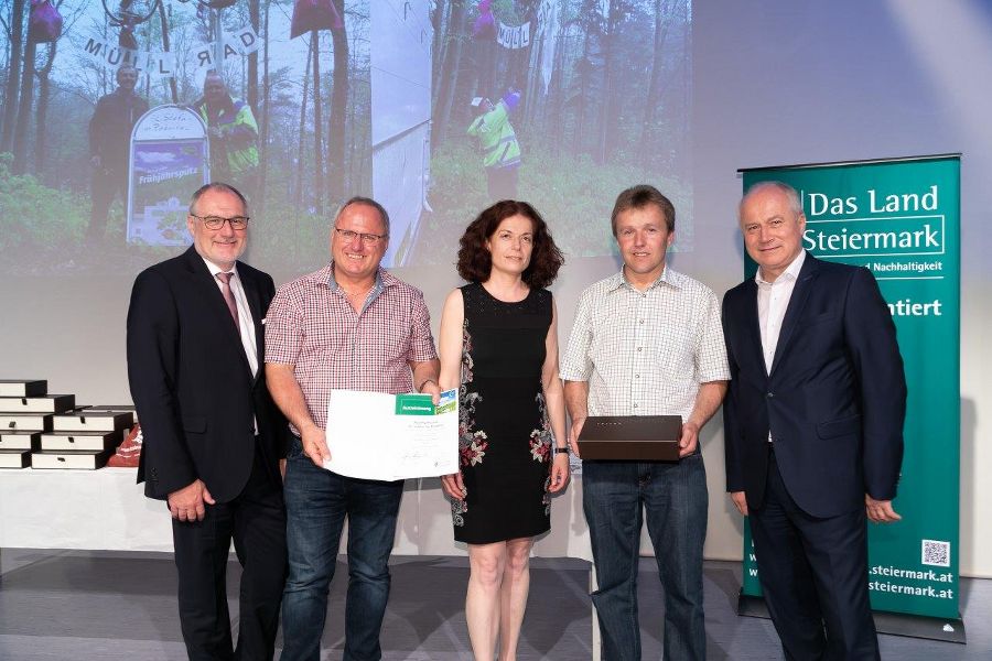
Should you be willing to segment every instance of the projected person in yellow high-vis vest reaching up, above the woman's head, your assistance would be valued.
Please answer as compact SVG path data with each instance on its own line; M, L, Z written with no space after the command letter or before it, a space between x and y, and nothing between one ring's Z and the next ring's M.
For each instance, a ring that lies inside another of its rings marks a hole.
M517 198L520 170L520 143L509 121L520 104L520 91L508 89L498 104L475 97L472 108L477 113L468 126L468 136L478 141L490 202Z

